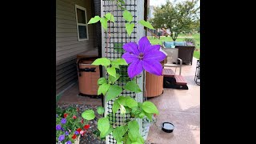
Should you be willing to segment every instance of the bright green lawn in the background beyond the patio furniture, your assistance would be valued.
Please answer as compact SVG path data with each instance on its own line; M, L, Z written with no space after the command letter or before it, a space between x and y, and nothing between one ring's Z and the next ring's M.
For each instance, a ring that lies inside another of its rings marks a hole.
M200 34L193 34L191 36L186 35L186 34L178 34L178 38L176 39L176 42L182 42L186 37L193 37L195 42L196 42L196 50L194 50L194 58L200 58ZM154 38L153 36L148 36L150 42L152 45L162 45L162 42L167 41L167 42L173 42L173 40L170 38L170 36L165 37L161 36L160 39Z

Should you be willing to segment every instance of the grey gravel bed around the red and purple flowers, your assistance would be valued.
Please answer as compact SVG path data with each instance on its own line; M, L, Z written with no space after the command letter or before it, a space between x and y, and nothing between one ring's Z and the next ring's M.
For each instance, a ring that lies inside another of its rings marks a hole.
M85 110L92 109L95 112L96 118L89 121L90 129L86 132L86 134L82 137L80 137L80 144L105 144L105 139L101 140L99 138L96 138L96 136L93 134L94 130L97 130L97 122L98 118L102 118L102 115L99 115L97 113L97 107L98 106L88 106L88 105L80 105L80 104L58 104L58 107L65 109L69 106L74 106L78 108L78 113L81 116L82 112Z

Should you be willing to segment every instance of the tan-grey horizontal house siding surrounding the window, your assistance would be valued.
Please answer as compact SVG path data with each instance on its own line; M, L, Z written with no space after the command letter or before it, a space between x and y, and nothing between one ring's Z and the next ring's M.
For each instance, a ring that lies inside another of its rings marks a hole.
M76 55L95 49L93 25L88 26L89 40L78 41L75 4L86 8L89 22L90 0L56 1L56 94L78 80Z

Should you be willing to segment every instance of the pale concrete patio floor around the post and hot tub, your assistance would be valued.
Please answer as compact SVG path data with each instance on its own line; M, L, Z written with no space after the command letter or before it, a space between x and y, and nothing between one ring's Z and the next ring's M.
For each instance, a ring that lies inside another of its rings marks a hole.
M148 99L158 107L156 125L150 126L146 143L148 144L199 144L200 143L200 86L194 82L197 59L193 65L182 66L182 76L188 83L189 90L164 89L158 97ZM172 68L173 69L173 68ZM174 69L173 69L174 70ZM176 70L178 74L178 68ZM62 94L58 103L84 104L101 106L101 98L78 96L78 83ZM161 130L162 122L172 122L173 133Z

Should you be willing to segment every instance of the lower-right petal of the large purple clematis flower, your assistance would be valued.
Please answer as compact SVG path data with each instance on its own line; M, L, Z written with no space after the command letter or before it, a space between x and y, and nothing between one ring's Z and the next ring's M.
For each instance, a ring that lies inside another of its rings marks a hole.
M142 61L143 68L150 74L162 75L162 65L158 61L144 59Z

